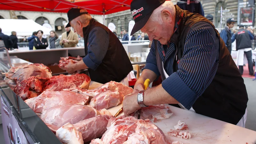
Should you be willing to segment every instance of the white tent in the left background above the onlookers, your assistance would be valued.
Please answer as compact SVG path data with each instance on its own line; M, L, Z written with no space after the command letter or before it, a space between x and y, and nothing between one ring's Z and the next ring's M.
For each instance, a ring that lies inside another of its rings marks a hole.
M2 33L10 36L12 31L17 32L17 36L31 36L34 31L42 30L44 35L50 35L52 29L45 28L33 20L0 19Z

